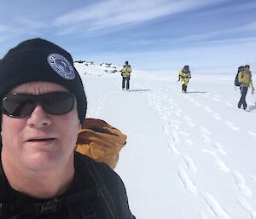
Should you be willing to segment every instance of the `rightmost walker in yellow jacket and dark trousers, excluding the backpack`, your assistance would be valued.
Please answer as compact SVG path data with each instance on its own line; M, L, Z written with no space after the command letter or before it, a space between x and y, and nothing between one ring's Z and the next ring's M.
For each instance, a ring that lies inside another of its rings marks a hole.
M242 105L243 109L247 110L246 95L248 87L251 86L252 92L254 92L252 72L249 65L244 66L244 69L238 73L238 82L240 83L241 98L237 107L241 108Z

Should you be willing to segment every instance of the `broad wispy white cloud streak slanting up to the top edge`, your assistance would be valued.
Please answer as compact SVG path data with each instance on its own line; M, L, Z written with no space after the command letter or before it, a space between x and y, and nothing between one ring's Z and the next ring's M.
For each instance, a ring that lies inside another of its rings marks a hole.
M200 9L226 0L108 0L94 3L56 18L62 33L95 32L112 26L136 25L171 14Z

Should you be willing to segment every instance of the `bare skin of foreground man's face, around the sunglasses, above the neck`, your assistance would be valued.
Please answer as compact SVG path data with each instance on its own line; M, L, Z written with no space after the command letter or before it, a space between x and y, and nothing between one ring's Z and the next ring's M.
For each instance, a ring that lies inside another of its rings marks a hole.
M21 84L10 93L42 95L55 91L67 89L59 84L32 82ZM2 118L3 163L32 171L73 163L80 128L76 108L63 115L53 115L44 112L38 104L31 116L10 118L3 114Z

